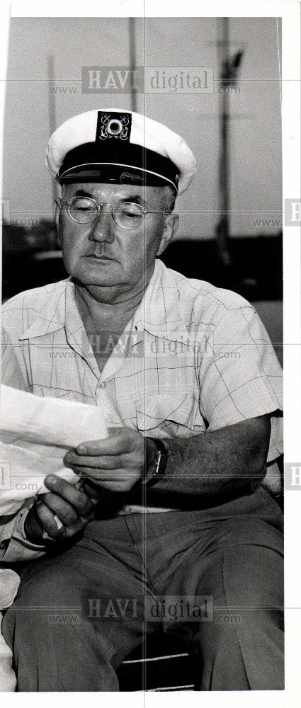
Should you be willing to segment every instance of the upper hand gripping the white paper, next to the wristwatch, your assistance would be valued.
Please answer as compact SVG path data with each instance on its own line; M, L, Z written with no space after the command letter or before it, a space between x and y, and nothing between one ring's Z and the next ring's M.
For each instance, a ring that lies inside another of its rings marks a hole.
M142 477L144 437L132 428L110 428L105 440L83 442L67 452L66 467L110 491L124 492Z

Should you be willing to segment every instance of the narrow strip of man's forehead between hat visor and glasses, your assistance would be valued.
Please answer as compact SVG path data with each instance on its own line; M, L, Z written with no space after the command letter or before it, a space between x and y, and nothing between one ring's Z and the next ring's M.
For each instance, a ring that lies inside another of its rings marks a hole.
M101 182L72 182L64 185L64 193L68 197L74 195L91 195L93 197L115 199L140 198L147 202L149 200L162 200L164 197L164 187L130 185L130 184L108 184Z

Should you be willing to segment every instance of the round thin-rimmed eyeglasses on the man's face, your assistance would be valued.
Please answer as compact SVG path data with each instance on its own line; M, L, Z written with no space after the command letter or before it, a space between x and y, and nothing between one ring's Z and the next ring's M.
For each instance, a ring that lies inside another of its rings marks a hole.
M59 202L60 205L67 206L69 217L78 224L90 224L97 219L104 206L112 207L111 215L115 223L121 229L128 230L140 227L144 214L154 213L143 209L140 204L135 202L120 202L115 207L112 204L98 204L95 199L90 197L72 197L68 202L63 199L60 199Z

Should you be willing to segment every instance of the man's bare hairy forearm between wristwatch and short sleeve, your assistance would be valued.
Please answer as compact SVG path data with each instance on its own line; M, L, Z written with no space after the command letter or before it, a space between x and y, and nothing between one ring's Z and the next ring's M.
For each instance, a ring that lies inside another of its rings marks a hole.
M259 482L266 472L270 433L270 417L261 416L192 438L166 439L165 474L152 489L212 496Z

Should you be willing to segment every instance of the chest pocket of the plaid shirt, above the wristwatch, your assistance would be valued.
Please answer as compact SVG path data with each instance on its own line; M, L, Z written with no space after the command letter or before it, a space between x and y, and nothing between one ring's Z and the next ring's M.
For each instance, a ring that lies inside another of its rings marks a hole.
M144 396L135 401L137 428L149 438L189 438L205 432L193 394Z

